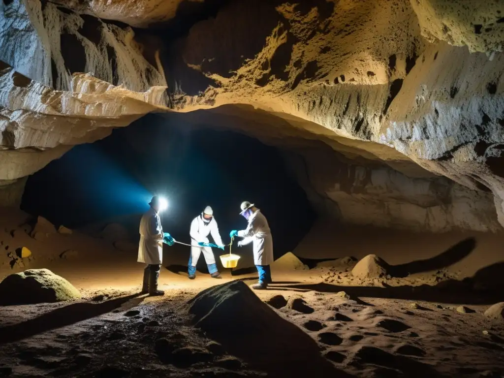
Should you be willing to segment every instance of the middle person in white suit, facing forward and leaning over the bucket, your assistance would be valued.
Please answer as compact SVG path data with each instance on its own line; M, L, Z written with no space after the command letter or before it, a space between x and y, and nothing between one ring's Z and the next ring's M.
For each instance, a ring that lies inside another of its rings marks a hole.
M222 239L219 234L219 227L217 226L217 221L214 218L214 212L210 206L207 206L203 213L198 215L191 222L191 255L189 256L189 263L187 264L188 277L192 280L196 278L196 265L200 259L200 255L203 252L203 257L208 266L208 273L213 278L219 278L220 273L217 270L217 264L215 263L214 253L212 248L209 246L196 246L198 244L208 243L208 235L211 234L215 241L215 244L219 245L219 248L224 249L222 246Z

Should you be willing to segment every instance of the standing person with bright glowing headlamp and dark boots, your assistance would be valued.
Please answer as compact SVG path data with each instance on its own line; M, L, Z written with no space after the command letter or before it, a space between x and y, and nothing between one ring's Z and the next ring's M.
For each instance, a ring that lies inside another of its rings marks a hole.
M161 208L159 197L152 197L150 209L140 221L140 243L138 246L138 262L145 263L142 294L164 295L158 290L159 271L163 262L163 243L173 245L173 238L168 233L163 233L159 210Z

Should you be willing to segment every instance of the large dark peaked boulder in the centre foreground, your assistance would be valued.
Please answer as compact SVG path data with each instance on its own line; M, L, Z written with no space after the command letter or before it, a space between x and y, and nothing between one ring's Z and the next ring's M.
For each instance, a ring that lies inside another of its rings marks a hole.
M281 318L243 281L208 288L189 304L197 327L268 375L348 376L321 356L311 337Z

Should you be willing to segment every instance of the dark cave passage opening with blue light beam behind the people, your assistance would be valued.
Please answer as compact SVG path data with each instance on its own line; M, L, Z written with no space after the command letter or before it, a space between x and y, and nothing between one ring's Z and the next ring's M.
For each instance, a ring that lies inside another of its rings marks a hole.
M228 242L231 229L246 226L240 203L255 203L270 223L276 258L292 250L316 218L276 148L156 115L76 146L31 175L21 208L70 228L121 223L135 239L153 194L167 198L163 227L183 242L207 205Z

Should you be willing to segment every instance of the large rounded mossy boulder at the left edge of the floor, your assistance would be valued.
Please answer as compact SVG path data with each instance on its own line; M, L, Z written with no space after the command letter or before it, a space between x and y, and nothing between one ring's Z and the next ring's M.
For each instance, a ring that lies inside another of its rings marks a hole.
M29 269L0 282L0 305L53 303L81 298L66 279L48 269Z

